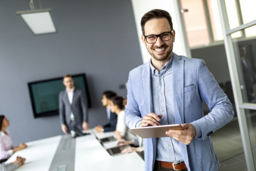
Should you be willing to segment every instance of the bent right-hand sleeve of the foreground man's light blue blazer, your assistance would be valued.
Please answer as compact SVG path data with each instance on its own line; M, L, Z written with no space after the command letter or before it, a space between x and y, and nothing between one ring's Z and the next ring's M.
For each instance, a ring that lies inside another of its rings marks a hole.
M191 124L200 127L201 135L197 138L204 140L217 129L229 123L234 116L234 111L227 95L219 87L204 60L198 62L197 81L199 94L206 102L210 112Z

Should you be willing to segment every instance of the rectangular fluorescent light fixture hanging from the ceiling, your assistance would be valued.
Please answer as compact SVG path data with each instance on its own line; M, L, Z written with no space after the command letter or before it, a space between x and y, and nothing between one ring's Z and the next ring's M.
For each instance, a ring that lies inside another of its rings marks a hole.
M34 34L55 33L56 29L50 15L50 8L17 11Z

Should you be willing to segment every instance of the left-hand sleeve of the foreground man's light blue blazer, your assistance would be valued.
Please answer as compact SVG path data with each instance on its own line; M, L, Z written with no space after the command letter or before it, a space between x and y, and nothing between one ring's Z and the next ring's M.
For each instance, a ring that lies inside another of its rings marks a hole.
M127 83L127 104L125 108L125 123L127 124L128 128L135 128L139 127L141 121L142 116L137 101L134 98L130 71Z

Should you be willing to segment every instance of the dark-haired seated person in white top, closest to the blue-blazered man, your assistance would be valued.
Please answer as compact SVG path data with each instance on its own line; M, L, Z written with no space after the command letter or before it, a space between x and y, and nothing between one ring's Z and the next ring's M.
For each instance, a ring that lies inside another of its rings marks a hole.
M117 139L123 139L127 131L127 126L125 124L125 110L122 97L111 98L111 112L115 112L117 115L115 135Z

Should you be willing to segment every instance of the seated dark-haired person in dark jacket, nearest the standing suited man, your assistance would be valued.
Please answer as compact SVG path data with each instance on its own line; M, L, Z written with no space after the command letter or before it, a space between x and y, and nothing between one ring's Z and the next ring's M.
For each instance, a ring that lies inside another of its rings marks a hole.
M110 132L110 131L116 130L117 115L111 112L111 109L110 109L111 98L115 96L116 96L116 93L114 93L113 91L103 92L102 106L106 107L107 109L109 123L107 123L104 126L101 126L101 125L95 126L96 132Z

